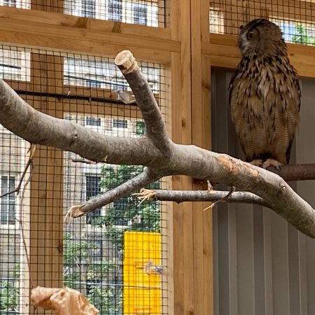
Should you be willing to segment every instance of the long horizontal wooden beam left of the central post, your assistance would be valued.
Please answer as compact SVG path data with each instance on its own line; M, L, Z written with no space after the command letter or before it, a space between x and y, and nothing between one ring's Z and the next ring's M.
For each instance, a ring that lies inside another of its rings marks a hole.
M0 7L3 43L109 56L128 48L137 59L167 63L171 52L181 50L171 35L165 28Z

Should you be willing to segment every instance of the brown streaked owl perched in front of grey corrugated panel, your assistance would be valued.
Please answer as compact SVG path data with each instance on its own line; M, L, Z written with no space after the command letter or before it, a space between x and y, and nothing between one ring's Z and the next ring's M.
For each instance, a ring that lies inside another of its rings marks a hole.
M239 32L241 62L229 96L235 130L246 162L279 168L287 164L300 112L300 85L281 29L257 19Z

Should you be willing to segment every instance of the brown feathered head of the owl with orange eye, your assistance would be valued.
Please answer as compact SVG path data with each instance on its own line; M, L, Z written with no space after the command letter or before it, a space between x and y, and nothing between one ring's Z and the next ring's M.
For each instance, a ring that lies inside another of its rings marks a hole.
M240 27L239 49L241 55L255 53L257 55L277 55L279 51L286 53L286 44L278 25L265 19L256 19Z

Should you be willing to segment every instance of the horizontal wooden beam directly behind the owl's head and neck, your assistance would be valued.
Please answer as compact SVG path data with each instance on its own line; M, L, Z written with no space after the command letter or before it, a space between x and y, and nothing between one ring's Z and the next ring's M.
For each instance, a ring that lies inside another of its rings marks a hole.
M299 76L315 78L315 47L288 43L290 62ZM235 68L240 60L237 36L211 34L209 43L202 43L202 53L210 55L212 66Z

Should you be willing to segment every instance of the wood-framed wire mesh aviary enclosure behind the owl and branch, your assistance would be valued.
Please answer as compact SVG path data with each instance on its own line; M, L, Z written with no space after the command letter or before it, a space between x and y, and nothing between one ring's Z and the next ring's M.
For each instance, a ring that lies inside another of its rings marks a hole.
M227 89L239 62L239 27L253 18L283 30L302 83L292 163L312 163L314 1L0 0L0 76L42 113L138 139L141 111L113 62L131 50L174 142L242 158ZM32 151L0 127L4 195L20 183ZM34 310L34 286L75 288L100 314L314 314L314 241L271 210L139 205L130 195L67 219L73 205L141 167L94 163L46 146L33 152L27 188L0 200L0 314L48 313ZM314 207L314 181L291 185ZM149 188L207 190L207 183L174 175ZM151 274L150 264L161 272Z

